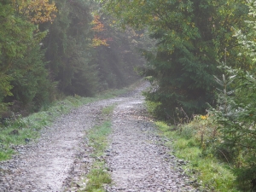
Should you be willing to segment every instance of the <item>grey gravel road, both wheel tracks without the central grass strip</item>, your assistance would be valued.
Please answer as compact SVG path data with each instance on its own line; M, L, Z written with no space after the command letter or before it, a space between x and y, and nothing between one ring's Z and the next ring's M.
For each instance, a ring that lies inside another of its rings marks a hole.
M45 127L35 143L16 148L12 160L0 162L0 191L77 191L80 177L90 169L85 131L101 119L102 108L116 104L113 133L106 151L113 184L109 192L196 191L189 186L180 162L161 144L143 107L142 90L73 109ZM70 183L73 183L71 185Z

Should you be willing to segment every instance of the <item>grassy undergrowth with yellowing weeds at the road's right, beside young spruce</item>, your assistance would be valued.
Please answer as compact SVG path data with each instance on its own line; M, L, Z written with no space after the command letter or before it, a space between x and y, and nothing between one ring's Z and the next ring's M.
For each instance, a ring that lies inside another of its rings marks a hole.
M211 144L216 139L216 126L212 119L205 117L198 116L191 123L176 128L160 121L156 125L160 135L169 139L166 146L172 148L178 158L188 161L183 168L195 187L210 191L239 191L225 154Z

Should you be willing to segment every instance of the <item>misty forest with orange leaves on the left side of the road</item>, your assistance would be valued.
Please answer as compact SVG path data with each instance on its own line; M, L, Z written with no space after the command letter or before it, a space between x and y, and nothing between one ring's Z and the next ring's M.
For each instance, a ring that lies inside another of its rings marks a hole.
M83 0L1 1L2 118L26 116L61 96L94 96L137 79L134 67L143 59L132 49L133 33L115 30L98 9L94 1Z

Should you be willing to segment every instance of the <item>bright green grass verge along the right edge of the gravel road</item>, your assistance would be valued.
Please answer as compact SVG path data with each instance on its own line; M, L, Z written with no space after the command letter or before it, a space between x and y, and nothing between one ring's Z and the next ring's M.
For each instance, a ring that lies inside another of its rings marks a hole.
M191 177L196 177L197 183L201 183L202 188L219 192L238 191L236 177L228 165L219 161L210 152L205 153L199 132L204 130L205 133L207 128L201 126L200 121L195 121L192 125L180 125L176 131L164 122L155 124L160 130L160 136L168 138L169 142L166 142L166 146L173 149L174 155L189 161L183 169Z

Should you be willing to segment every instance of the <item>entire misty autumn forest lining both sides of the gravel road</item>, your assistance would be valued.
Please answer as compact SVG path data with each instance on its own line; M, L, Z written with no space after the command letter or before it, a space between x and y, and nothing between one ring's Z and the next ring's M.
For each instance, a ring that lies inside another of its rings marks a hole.
M2 0L1 117L138 73L154 117L187 127L237 189L255 191L255 15L253 0Z

